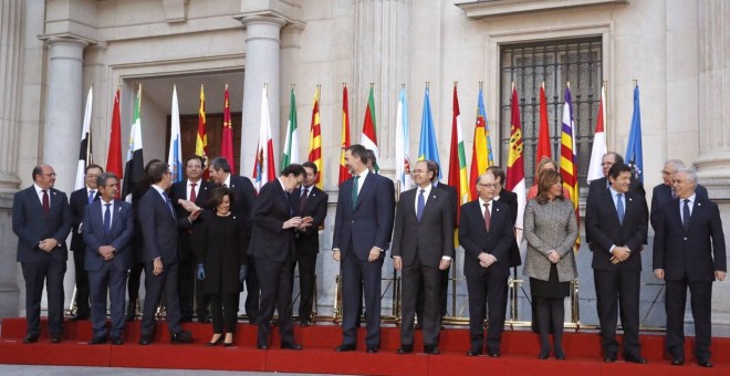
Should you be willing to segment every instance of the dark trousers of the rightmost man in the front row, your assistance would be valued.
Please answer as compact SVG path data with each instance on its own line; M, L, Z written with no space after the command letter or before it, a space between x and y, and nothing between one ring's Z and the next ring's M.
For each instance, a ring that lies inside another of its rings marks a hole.
M687 289L695 320L695 356L698 361L710 359L712 336L712 281L690 282L665 280L665 310L667 312L667 351L676 357L685 356L685 306Z

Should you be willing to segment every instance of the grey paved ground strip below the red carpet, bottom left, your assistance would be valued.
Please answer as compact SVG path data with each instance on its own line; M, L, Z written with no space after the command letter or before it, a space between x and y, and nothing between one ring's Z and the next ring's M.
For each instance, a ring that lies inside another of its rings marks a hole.
M113 368L113 367L66 367L66 366L25 366L0 365L0 375L3 376L226 376L226 375L278 375L275 373L257 372L221 372L199 369L148 369L148 368ZM286 374L305 376L312 374Z

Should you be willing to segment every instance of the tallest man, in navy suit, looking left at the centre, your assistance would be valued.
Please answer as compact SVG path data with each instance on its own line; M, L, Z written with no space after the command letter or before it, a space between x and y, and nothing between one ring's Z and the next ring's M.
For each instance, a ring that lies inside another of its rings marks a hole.
M364 146L345 152L352 174L340 186L332 237L333 259L341 262L343 341L337 352L354 351L359 306L365 293L367 352L380 347L380 278L385 251L390 243L395 197L393 181L367 169Z

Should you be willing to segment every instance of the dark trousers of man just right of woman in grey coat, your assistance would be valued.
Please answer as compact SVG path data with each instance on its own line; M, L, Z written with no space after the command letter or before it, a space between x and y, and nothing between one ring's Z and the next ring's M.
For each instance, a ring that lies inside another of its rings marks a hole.
M624 356L639 356L639 288L638 269L593 270L596 286L601 342L606 356L618 354L616 325L618 314L624 328ZM620 313L619 313L620 306Z

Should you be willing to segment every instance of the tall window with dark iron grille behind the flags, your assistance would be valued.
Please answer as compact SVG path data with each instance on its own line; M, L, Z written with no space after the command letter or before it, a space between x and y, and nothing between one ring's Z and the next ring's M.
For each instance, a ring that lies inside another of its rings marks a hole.
M512 83L520 98L524 175L526 186L533 181L535 149L540 132L540 85L545 83L548 118L553 158L560 163L560 145L565 84L571 83L574 137L578 184L586 187L586 175L593 147L596 115L602 86L601 38L550 41L501 46L501 159L507 168L510 142Z

